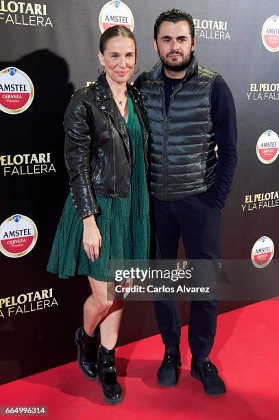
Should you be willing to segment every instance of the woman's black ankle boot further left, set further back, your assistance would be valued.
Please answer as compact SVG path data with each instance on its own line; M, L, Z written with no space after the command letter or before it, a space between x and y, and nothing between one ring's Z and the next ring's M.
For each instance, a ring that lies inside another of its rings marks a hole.
M80 327L75 331L75 344L77 345L77 364L88 380L97 378L97 338L99 336L99 325L94 335L89 337L84 329Z

